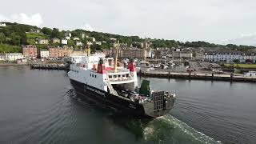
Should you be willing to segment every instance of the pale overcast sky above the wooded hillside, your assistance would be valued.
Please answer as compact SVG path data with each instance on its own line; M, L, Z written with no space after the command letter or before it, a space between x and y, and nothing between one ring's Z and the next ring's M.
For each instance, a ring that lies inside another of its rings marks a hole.
M7 0L0 22L179 41L256 44L255 0Z

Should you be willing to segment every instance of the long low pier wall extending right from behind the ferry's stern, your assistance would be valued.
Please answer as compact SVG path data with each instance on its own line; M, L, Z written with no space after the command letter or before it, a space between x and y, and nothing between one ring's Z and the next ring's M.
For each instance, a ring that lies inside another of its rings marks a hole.
M194 73L172 73L172 72L138 72L139 76L150 78L180 78L227 82L256 82L256 77L236 76L233 74L194 74Z

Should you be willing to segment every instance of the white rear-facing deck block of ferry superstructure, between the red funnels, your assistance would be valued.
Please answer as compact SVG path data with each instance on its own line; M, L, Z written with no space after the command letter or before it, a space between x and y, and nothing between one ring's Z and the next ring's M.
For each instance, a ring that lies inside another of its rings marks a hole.
M134 82L134 77L130 74L129 69L106 70L107 78L110 84L123 84Z

